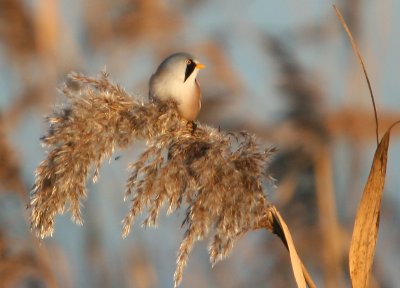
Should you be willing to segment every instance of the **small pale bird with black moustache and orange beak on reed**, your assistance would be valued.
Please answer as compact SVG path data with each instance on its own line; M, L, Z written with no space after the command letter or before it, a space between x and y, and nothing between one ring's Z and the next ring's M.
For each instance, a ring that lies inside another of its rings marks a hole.
M172 99L180 116L194 123L201 109L201 90L196 76L203 68L205 65L189 53L168 56L150 78L150 101Z

